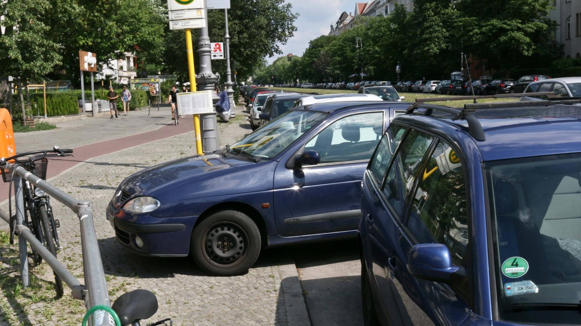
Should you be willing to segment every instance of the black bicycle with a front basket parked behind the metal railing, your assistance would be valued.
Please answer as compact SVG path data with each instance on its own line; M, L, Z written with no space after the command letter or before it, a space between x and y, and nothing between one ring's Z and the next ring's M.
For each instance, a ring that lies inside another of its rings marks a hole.
M0 166L5 166L8 162L13 161L14 164L22 166L26 171L33 173L42 180L46 179L46 168L48 167L48 159L46 155L49 152L56 153L59 156L67 156L73 153L71 149L61 150L59 146L53 147L52 150L29 151L13 155L8 158L0 158ZM41 154L33 157L28 157L26 160L19 160L20 157ZM14 172L9 173L8 170L0 168L2 171L2 179L4 182L13 181ZM10 184L12 188L12 184ZM24 216L23 224L30 229L35 237L56 257L57 249L60 249L59 236L56 229L60 226L59 220L55 219L52 212L50 197L44 190L36 187L28 180L22 179L22 189L24 197ZM10 200L10 199L9 199ZM12 204L9 204L10 211L12 211ZM14 244L14 234L16 229L16 216L10 212L10 244ZM42 256L32 249L31 258L35 263L42 262ZM63 295L62 280L53 271L55 276L55 290L57 296Z

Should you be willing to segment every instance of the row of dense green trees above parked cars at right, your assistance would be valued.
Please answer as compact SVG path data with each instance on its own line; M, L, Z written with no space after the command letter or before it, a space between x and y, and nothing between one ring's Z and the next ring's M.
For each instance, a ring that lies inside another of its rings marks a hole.
M394 81L397 64L404 80L449 78L460 70L462 52L500 75L515 67L548 68L561 55L551 40L550 8L548 0L414 0L413 12L407 12L396 3L388 17L357 17L338 37L313 39L301 57L299 78L360 81L363 67L367 80ZM356 37L363 48L356 48ZM274 75L274 81L285 81L272 67L279 59L258 70L255 80L265 84L263 77Z

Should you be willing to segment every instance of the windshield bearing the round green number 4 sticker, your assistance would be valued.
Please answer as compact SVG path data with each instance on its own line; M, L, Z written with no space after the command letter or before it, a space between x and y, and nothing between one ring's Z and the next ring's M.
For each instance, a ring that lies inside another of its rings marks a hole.
M486 171L501 320L577 324L581 154L496 161Z

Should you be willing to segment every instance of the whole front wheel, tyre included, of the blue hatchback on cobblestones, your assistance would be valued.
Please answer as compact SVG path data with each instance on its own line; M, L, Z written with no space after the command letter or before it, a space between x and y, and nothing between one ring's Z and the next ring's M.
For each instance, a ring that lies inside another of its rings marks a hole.
M220 211L193 229L191 252L198 267L217 276L246 273L260 253L260 231L248 215Z

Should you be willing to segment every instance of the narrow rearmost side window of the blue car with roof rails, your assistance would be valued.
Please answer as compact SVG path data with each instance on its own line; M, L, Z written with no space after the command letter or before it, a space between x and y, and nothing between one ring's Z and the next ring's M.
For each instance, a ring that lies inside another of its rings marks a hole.
M395 153L404 131L406 131L404 126L392 124L379 142L368 168L376 182L381 184L383 181L385 171L388 169L389 162L392 160L393 153Z

